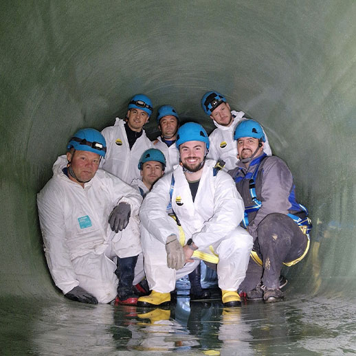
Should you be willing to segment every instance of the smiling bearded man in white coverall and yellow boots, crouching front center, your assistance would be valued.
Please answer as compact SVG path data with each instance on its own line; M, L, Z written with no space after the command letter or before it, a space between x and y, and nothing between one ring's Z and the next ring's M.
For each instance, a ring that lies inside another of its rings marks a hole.
M155 183L140 209L151 294L140 297L137 305L168 304L175 281L203 259L217 264L224 306L239 306L237 289L252 249L252 237L239 226L243 201L231 177L205 159L209 139L201 125L181 126L176 145L181 164ZM167 214L170 205L174 219Z

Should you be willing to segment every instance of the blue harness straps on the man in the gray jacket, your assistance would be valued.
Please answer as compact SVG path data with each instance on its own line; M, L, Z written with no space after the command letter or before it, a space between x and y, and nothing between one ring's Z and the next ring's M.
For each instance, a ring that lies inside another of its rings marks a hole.
M262 206L261 201L257 199L256 181L255 181L255 179L257 177L258 169L260 168L260 164L262 162L263 162L263 160L261 160L258 163L258 165L256 166L256 168L254 170L254 174L252 175L251 179L249 179L249 194L251 195L251 199L254 204L245 207L245 212L244 212L243 221L242 221L243 227L245 227L245 229L247 229L247 226L249 225L249 219L248 219L249 212L256 212ZM241 179L239 179L239 180L241 180ZM293 221L300 227L303 234L307 235L308 239L310 239L309 232L311 231L311 228L313 227L313 225L311 225L311 219L309 219L309 217L308 217L308 214L309 214L308 210L304 205L302 205L300 203L298 203L298 205L300 206L300 210L305 212L304 219L300 218L299 216L293 215L291 213L289 213L287 215L291 219L293 219Z

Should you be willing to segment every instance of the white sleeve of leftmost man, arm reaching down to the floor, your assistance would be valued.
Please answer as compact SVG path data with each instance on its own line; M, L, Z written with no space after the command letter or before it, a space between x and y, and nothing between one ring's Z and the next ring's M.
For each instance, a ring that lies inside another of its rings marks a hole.
M37 194L38 216L41 224L45 256L54 283L63 293L79 285L69 258L65 236L65 219L60 190L45 187Z

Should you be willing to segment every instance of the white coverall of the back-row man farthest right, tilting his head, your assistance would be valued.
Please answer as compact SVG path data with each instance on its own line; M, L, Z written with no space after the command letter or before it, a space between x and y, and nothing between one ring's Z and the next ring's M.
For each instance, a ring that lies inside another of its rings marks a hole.
M224 170L231 170L236 168L238 162L237 158L237 144L234 141L234 131L241 120L247 120L243 117L243 111L231 111L234 121L230 126L222 126L214 121L216 129L209 135L210 148L208 158L218 160L222 159L225 162ZM263 131L265 133L265 131ZM267 135L265 133L266 142L263 151L267 156L272 155L271 147L269 147Z

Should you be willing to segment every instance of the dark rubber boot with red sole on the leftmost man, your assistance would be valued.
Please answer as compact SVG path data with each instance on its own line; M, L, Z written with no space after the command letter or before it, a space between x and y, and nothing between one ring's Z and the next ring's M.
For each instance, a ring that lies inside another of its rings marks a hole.
M119 258L118 268L115 271L118 276L118 296L115 302L118 304L136 305L138 296L133 293L133 277L137 256Z

